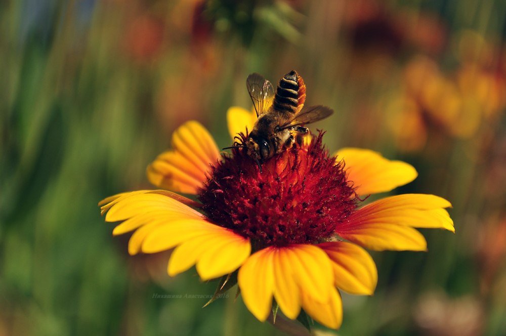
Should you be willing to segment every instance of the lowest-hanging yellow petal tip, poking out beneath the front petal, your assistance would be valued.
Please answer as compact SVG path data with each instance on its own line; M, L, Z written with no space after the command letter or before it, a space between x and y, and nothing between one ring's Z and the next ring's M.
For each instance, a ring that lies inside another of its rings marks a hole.
M302 307L304 311L321 324L338 329L343 321L343 304L341 296L334 287L330 288L329 300L325 303L318 302L303 291Z

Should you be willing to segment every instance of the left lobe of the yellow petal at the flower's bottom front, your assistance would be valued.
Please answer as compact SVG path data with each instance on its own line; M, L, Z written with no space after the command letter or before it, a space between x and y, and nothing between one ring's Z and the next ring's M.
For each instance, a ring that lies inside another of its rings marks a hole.
M239 269L237 282L242 300L260 321L269 316L272 306L274 270L272 248L264 248L251 255Z

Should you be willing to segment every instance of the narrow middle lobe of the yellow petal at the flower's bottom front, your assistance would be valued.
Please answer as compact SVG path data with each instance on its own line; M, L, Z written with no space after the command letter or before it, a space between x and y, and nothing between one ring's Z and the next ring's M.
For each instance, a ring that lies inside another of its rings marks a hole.
M274 298L286 317L296 319L301 312L300 289L295 281L290 254L285 248L275 250Z

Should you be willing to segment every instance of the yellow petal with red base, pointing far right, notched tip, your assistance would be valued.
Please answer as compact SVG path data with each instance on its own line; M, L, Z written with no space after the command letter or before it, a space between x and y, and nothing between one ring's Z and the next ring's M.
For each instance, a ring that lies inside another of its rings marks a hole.
M372 202L336 227L341 237L374 250L426 250L423 235L413 229L441 228L454 232L446 199L405 194Z

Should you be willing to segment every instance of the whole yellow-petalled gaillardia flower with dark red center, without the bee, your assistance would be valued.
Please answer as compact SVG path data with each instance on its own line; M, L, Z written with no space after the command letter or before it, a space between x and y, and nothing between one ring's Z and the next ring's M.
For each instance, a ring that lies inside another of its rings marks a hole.
M232 136L251 130L251 113L229 110ZM173 149L148 167L164 190L122 193L100 202L113 234L134 231L129 253L172 249L168 274L196 265L202 280L237 275L246 307L265 321L273 307L290 319L303 309L323 325L342 321L339 290L371 295L372 250L426 250L414 228L454 231L438 196L405 194L363 205L368 195L416 178L414 168L379 153L345 148L329 155L323 133L261 165L242 148L220 154L196 121L177 129ZM197 195L193 201L175 192ZM223 282L223 280L222 280Z

